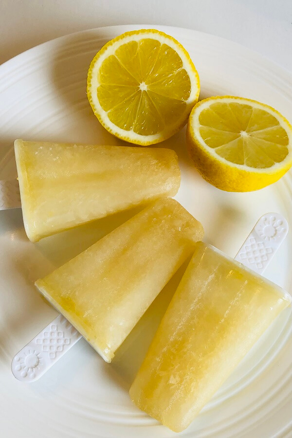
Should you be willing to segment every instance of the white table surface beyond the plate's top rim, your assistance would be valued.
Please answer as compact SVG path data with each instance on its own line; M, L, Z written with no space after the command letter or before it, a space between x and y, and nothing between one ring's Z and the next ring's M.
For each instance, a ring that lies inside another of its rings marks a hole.
M114 24L207 32L292 72L292 0L1 0L0 63L52 38Z

